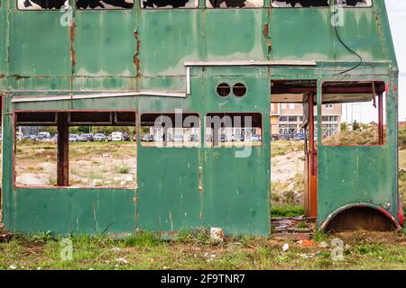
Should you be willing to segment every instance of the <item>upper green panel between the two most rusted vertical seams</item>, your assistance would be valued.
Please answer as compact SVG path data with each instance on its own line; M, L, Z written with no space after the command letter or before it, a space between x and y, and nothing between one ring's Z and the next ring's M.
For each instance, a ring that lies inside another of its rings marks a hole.
M136 76L136 21L131 10L78 10L75 24L75 76ZM111 86L120 87L119 83Z

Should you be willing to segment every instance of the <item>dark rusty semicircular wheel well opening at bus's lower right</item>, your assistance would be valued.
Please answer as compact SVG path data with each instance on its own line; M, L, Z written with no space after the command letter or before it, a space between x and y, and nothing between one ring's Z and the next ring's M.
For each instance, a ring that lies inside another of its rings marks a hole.
M326 232L342 232L354 230L392 231L396 223L385 213L372 207L351 207L339 211L328 220L324 230Z

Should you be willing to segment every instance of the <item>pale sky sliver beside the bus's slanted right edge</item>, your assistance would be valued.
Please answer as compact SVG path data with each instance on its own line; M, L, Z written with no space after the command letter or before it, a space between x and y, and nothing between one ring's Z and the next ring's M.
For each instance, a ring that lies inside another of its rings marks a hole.
M400 69L399 121L406 120L406 1L385 0Z

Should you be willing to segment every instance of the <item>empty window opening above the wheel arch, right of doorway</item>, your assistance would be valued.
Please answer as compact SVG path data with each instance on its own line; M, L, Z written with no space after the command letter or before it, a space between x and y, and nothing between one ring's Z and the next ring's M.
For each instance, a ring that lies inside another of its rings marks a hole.
M386 138L383 82L327 82L323 84L322 144L326 146L383 145Z

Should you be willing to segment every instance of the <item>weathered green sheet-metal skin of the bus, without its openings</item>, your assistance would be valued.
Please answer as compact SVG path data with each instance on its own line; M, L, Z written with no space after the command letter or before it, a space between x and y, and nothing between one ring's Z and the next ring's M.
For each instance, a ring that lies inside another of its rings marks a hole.
M5 31L0 34L0 90L12 93L13 99L51 96L52 101L12 103L12 98L5 97L3 219L11 230L113 233L204 225L223 227L227 233L266 234L272 177L270 120L265 117L270 80L338 80L343 76L337 73L355 67L359 60L337 40L329 8L205 9L200 4L198 9L146 11L134 4L123 11L75 10L75 25L69 27L60 25L60 11L19 11L15 3L7 2L8 9L4 2L0 6L0 28ZM318 143L318 223L322 225L346 205L361 202L401 222L397 64L384 1L375 0L372 8L346 9L345 20L338 31L363 58L362 69L346 73L347 77L384 76L391 87L390 130L383 147L331 148ZM291 65L190 67L190 84L184 66L185 61L268 59ZM294 66L293 60L314 60L316 65ZM216 85L220 81L245 83L247 95L219 99ZM136 94L147 90L185 95ZM98 97L106 91L134 95ZM84 93L95 98L69 99ZM59 101L59 96L65 100ZM251 157L235 159L233 149L138 145L137 191L14 189L15 110L141 113L177 108L198 112L201 120L208 112L262 112L263 147L254 148Z

